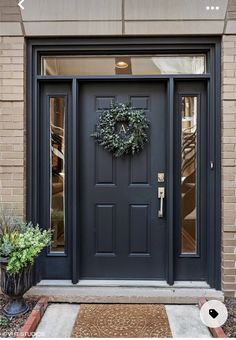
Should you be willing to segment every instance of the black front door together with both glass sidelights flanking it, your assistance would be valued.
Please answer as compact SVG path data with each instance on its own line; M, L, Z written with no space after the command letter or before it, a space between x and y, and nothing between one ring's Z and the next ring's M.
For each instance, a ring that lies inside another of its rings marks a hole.
M206 83L178 80L172 94L163 79L45 82L39 91L36 221L51 227L53 242L37 280L208 281ZM116 158L91 136L112 101L150 121L149 142L134 156Z

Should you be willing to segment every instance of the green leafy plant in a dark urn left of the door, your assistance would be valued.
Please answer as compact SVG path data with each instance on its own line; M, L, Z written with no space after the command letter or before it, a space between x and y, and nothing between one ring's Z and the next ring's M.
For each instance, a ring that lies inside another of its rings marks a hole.
M51 231L42 230L0 211L1 289L10 298L3 308L6 316L26 313L23 295L32 286L32 267L36 257L51 242Z

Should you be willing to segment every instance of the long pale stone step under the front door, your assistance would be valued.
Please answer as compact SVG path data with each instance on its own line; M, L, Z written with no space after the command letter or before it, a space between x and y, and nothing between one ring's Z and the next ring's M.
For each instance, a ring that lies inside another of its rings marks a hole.
M54 281L53 281L54 282ZM49 302L67 303L165 303L165 304L197 304L200 298L223 301L222 291L209 287L197 286L89 286L80 284L49 284L41 281L32 287L27 295L47 296ZM100 282L101 284L101 282ZM187 284L187 283L186 283ZM181 283L183 285L183 282Z

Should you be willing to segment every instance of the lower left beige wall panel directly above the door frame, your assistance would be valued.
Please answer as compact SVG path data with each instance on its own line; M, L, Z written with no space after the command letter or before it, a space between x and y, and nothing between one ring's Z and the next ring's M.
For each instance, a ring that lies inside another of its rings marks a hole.
M116 35L122 33L121 21L26 22L27 36Z

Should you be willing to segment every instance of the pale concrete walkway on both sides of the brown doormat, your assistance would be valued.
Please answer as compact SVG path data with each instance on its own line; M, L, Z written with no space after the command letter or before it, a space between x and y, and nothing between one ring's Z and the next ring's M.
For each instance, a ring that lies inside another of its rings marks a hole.
M211 338L196 305L165 305L164 308L173 338ZM36 330L36 337L70 338L79 311L79 304L50 304Z

